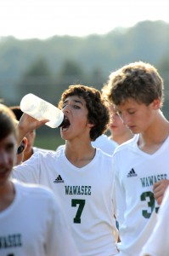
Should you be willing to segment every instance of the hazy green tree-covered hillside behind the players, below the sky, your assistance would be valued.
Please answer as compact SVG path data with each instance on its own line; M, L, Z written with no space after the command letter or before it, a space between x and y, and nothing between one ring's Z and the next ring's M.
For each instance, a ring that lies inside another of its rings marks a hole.
M9 104L17 103L21 96L32 91L48 97L50 102L58 102L67 85L81 83L100 88L112 71L131 61L160 65L162 72L167 66L163 59L169 56L168 31L169 24L146 20L128 28L117 27L105 35L84 38L1 38L1 97ZM166 78L165 81L167 87Z

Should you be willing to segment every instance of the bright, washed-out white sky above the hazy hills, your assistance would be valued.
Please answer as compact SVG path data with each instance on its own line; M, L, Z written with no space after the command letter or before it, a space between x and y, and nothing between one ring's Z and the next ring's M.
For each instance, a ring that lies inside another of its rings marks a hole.
M166 0L5 0L0 37L50 38L104 34L141 20L169 22Z

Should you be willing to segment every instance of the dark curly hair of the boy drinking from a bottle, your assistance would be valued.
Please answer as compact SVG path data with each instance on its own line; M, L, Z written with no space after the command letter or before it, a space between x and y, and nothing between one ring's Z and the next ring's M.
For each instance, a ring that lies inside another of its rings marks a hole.
M99 90L86 85L76 84L70 85L62 94L58 107L61 109L65 99L69 96L78 96L86 102L88 114L88 121L94 126L90 131L91 141L95 141L97 137L102 135L107 130L110 121L110 113L107 102L104 101L103 96Z

